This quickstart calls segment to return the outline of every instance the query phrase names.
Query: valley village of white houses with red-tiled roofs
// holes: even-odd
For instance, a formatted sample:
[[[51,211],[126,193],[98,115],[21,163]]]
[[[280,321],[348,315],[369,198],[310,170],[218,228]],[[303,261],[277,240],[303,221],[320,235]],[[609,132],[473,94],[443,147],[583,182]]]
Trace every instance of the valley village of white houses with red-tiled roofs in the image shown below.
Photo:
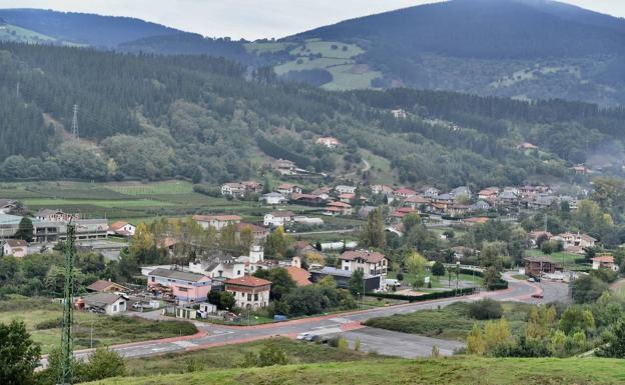
[[[334,138],[321,138],[319,143],[329,149],[340,145]],[[164,316],[239,324],[244,323],[244,313],[248,323],[251,323],[251,314],[264,322],[287,319],[296,312],[281,311],[279,303],[278,308],[276,304],[271,305],[277,297],[272,291],[272,270],[285,271],[289,282],[295,283],[297,288],[329,277],[336,288],[351,289],[351,302],[337,301],[334,307],[322,309],[325,311],[353,308],[357,300],[364,304],[365,295],[373,300],[371,295],[384,298],[384,293],[392,293],[393,298],[402,295],[412,298],[449,290],[454,290],[455,295],[459,288],[479,290],[484,281],[467,278],[466,273],[474,272],[464,268],[463,279],[456,278],[456,286],[451,285],[451,275],[455,271],[459,276],[461,265],[474,269],[479,275],[484,274],[484,268],[476,262],[481,252],[479,248],[458,236],[454,239],[454,233],[466,233],[467,229],[489,221],[518,223],[521,216],[554,207],[574,211],[587,193],[582,191],[571,196],[546,185],[489,187],[477,192],[466,186],[443,191],[432,186],[323,185],[322,178],[315,177],[311,182],[310,173],[291,161],[276,160],[273,167],[277,178],[289,182],[276,183],[271,191],[254,180],[227,182],[217,189],[227,200],[256,197],[266,208],[258,222],[244,222],[241,215],[233,212],[196,214],[189,218],[194,226],[212,233],[216,239],[231,236],[231,242],[197,247],[196,238],[181,236],[175,231],[165,230],[158,236],[152,234],[154,247],[161,250],[163,256],[159,260],[170,263],[138,266],[143,278],[134,279],[132,283],[116,283],[110,279],[95,281],[86,286],[84,295],[76,300],[76,307],[109,315],[158,309]],[[119,261],[128,255],[128,246],[136,238],[138,227],[146,231],[144,223],[123,220],[109,223],[106,218],[85,219],[80,213],[45,208],[27,218],[32,225],[32,236],[26,241],[21,229],[26,217],[13,215],[18,209],[25,212],[25,208],[16,200],[6,199],[0,203],[0,237],[5,256],[21,258],[62,250],[58,245],[66,241],[68,225],[73,223],[79,252],[97,253],[107,260]],[[372,247],[366,245],[366,241],[363,243],[362,227],[375,212],[381,216],[382,231],[387,237],[401,238],[406,235],[406,223],[417,220],[427,233],[436,236],[441,248],[449,250],[449,257],[427,260],[422,271],[411,274],[407,263],[384,255],[380,245]],[[336,228],[326,225],[328,218],[350,218],[359,220],[360,225]],[[302,238],[302,234],[309,236]],[[311,240],[310,236],[316,234],[326,240]],[[329,236],[334,236],[334,240],[329,240]],[[279,252],[276,242],[284,243],[278,246]],[[558,261],[549,254],[555,251],[569,259],[571,255],[583,258],[589,250],[594,250],[597,240],[579,231],[552,234],[544,229],[529,231],[523,242],[527,251],[522,261],[507,265],[508,269],[516,268],[529,280],[547,278],[571,282],[582,273],[578,271],[579,266],[566,266],[564,258]],[[544,253],[542,245],[547,243],[554,245],[554,250]],[[271,248],[269,255],[266,255],[267,247]],[[436,278],[432,276],[432,266],[441,261],[449,271],[449,282],[442,285],[442,280],[436,280],[432,286]],[[619,268],[608,253],[593,253],[587,263],[594,270],[617,271]],[[411,278],[402,281],[404,275]],[[417,275],[421,284],[410,281]],[[138,285],[142,280],[143,285]],[[277,284],[284,285],[283,282]],[[491,284],[487,283],[486,287]],[[354,286],[361,289],[355,290]],[[389,301],[381,305],[388,306]]]

